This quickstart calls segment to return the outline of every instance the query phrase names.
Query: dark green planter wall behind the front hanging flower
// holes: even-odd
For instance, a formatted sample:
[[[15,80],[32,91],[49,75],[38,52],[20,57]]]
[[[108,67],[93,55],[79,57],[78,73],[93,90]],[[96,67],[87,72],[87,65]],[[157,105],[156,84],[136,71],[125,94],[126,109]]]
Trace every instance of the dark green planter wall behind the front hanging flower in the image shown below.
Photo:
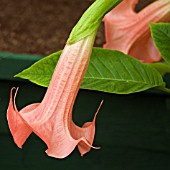
[[[32,134],[23,149],[10,135],[6,109],[11,87],[19,87],[17,106],[22,108],[41,101],[46,89],[27,81],[12,79],[40,57],[0,57],[0,170],[169,170],[170,169],[170,97],[151,93],[114,95],[80,90],[73,110],[78,125],[92,120],[102,99],[97,117],[95,146],[84,157],[78,150],[66,159],[45,154],[46,145]],[[12,70],[12,72],[11,72]],[[2,74],[3,73],[3,74]]]

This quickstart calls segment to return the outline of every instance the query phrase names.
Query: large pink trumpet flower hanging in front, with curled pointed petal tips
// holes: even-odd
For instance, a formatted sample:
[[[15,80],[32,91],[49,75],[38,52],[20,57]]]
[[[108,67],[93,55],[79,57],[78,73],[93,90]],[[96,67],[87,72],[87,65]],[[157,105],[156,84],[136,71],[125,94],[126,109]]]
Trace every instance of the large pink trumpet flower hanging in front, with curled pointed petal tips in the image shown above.
[[[68,156],[78,145],[81,155],[90,151],[95,135],[95,119],[82,128],[72,121],[73,104],[86,72],[95,34],[79,42],[66,45],[52,80],[41,103],[17,110],[11,90],[7,119],[18,147],[22,148],[34,132],[47,145],[47,155],[55,158]],[[98,111],[97,111],[98,112]]]

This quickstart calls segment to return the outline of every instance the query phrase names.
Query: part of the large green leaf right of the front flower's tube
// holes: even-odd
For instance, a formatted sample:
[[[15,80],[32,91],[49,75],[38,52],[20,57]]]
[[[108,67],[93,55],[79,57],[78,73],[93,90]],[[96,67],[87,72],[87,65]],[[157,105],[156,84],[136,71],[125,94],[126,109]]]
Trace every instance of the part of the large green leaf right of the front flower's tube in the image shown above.
[[[118,51],[94,49],[81,88],[128,94],[162,84],[152,67]]]

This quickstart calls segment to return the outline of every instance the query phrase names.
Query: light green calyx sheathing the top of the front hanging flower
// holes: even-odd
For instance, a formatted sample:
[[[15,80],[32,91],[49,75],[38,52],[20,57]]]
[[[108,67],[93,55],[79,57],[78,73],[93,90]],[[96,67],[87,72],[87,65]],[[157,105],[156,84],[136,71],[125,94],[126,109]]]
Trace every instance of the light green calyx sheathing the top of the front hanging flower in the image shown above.
[[[96,32],[104,15],[117,6],[122,0],[96,0],[82,15],[72,29],[67,44],[74,44]]]

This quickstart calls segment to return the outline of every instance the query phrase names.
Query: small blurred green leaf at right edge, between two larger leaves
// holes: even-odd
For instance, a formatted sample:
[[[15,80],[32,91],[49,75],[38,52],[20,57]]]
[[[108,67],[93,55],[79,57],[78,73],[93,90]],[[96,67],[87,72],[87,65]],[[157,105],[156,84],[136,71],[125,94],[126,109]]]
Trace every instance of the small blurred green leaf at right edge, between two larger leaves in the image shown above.
[[[166,63],[158,62],[158,63],[151,63],[149,65],[155,68],[161,74],[161,76],[170,73],[170,65]]]

